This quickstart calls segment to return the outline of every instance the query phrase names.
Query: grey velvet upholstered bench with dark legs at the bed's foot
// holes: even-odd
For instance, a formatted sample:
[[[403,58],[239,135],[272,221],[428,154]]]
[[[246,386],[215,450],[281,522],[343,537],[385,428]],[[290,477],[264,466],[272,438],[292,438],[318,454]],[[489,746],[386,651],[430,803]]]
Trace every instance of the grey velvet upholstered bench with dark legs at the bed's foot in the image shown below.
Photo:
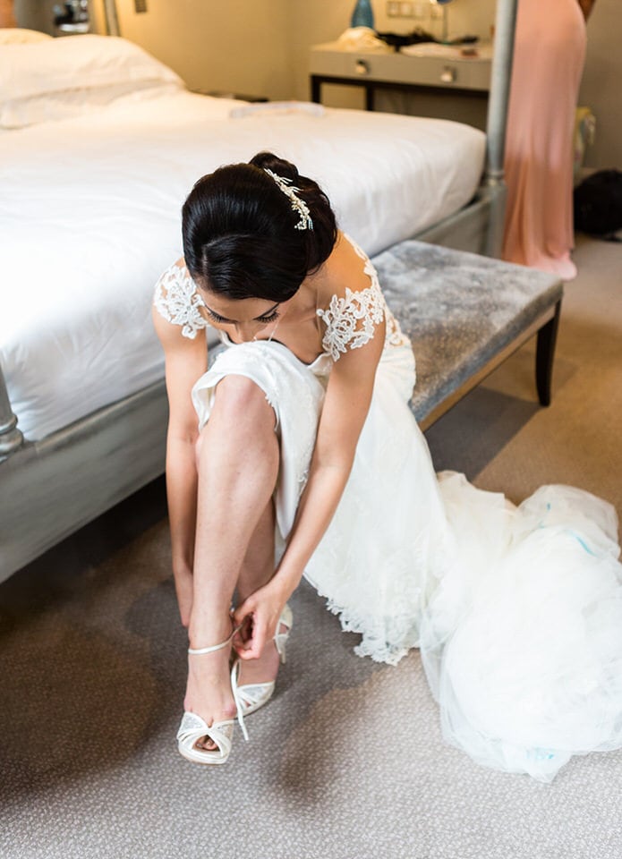
[[[411,408],[422,429],[534,334],[538,396],[550,404],[563,292],[558,276],[415,241],[372,261],[389,307],[413,342]]]

